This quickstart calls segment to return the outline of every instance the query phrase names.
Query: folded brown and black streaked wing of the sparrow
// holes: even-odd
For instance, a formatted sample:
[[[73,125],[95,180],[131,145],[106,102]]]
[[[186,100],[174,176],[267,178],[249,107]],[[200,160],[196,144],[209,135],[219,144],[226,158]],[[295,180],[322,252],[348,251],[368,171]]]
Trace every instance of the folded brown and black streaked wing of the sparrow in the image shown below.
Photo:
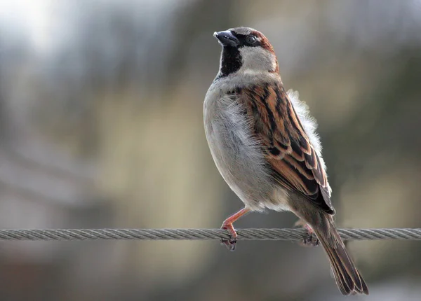
[[[274,179],[328,214],[335,214],[323,163],[281,83],[241,89]]]

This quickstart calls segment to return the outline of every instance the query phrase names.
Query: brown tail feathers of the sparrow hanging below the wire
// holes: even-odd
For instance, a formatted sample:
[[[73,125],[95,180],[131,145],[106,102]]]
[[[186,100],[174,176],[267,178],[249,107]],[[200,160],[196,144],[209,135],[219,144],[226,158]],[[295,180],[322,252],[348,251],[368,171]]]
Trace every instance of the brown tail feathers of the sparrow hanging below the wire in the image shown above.
[[[328,219],[327,228],[313,228],[314,232],[321,242],[332,267],[336,284],[343,295],[366,294],[368,287],[366,281],[359,273],[351,256],[349,256],[345,244],[333,224],[333,220]]]

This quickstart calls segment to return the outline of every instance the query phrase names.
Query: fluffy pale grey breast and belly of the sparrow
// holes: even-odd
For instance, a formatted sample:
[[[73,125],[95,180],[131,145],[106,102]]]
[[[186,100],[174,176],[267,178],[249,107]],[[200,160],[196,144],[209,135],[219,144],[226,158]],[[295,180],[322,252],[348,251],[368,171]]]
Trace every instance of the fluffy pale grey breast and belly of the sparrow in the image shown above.
[[[262,210],[273,186],[245,104],[236,94],[210,90],[203,110],[206,138],[220,174],[250,209]]]

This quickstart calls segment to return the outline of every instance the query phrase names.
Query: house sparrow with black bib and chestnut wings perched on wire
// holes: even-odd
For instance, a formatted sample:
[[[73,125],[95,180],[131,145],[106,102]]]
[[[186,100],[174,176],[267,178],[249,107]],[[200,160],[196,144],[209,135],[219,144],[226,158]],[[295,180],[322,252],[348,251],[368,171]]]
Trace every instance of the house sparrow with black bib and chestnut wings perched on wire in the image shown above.
[[[222,224],[231,236],[222,242],[234,250],[232,223],[249,211],[292,211],[326,251],[341,293],[368,294],[335,228],[316,122],[298,94],[285,91],[274,48],[247,27],[213,36],[222,54],[203,106],[206,138],[220,174],[245,204]]]

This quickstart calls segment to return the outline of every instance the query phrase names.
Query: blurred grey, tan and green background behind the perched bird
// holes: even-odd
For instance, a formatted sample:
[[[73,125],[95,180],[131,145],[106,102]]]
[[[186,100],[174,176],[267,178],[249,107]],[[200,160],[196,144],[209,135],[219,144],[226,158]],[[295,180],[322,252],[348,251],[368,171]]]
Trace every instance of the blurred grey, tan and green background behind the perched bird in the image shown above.
[[[213,31],[269,38],[319,121],[340,227],[420,228],[421,1],[0,1],[0,228],[218,228]],[[290,228],[288,213],[238,228]],[[370,288],[420,300],[421,243],[349,243]],[[288,241],[4,241],[0,300],[342,300]]]

